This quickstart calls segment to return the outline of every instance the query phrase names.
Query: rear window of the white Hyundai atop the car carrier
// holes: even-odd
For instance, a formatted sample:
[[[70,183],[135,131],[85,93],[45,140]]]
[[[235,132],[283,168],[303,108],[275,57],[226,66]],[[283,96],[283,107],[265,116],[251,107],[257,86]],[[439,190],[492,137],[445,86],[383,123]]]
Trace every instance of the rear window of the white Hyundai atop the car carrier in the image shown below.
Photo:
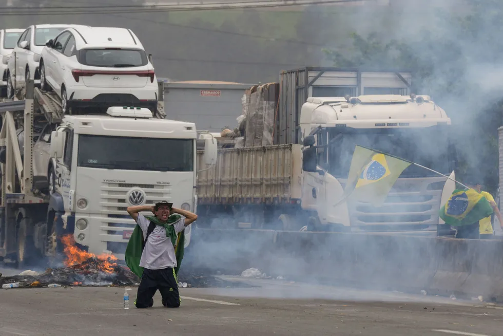
[[[82,49],[79,61],[89,66],[131,68],[148,64],[145,51],[139,49]]]

